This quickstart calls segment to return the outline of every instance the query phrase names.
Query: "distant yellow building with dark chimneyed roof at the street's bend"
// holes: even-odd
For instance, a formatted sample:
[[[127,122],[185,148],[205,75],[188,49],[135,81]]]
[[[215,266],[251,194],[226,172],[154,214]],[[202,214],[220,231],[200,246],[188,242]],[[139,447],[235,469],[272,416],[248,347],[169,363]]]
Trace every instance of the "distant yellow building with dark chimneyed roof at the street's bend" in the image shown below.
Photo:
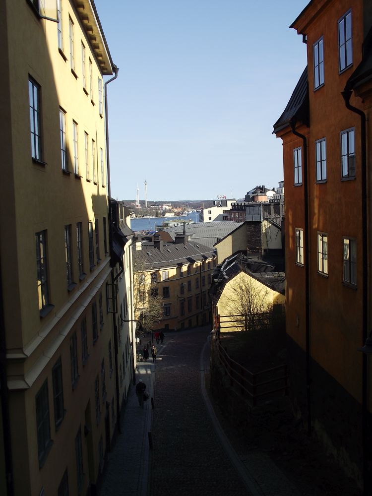
[[[177,330],[211,322],[208,289],[217,260],[214,248],[193,242],[192,234],[180,233],[174,242],[137,242],[136,249],[137,256],[141,251],[144,297],[164,299],[163,317],[153,329]]]

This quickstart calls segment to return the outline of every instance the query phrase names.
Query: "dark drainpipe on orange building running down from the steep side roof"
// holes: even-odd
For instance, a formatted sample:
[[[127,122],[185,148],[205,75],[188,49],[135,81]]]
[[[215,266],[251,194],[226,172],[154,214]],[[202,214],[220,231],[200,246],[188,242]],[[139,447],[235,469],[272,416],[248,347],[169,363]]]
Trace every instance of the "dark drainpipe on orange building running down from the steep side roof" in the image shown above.
[[[311,391],[310,391],[310,311],[309,311],[309,192],[308,192],[308,143],[304,134],[296,131],[296,121],[291,119],[293,134],[302,138],[304,147],[304,217],[305,217],[305,332],[306,332],[306,398],[308,406],[308,435],[311,435]]]

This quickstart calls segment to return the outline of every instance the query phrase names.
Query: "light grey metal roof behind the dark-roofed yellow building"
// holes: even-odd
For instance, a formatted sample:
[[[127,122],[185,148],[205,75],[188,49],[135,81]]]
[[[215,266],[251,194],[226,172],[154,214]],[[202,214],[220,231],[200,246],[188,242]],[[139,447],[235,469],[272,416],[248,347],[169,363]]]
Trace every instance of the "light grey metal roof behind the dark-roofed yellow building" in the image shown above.
[[[226,236],[239,226],[241,226],[240,222],[195,222],[193,224],[185,224],[185,229],[186,234],[193,233],[193,242],[196,241],[198,244],[213,248],[219,240],[226,238]],[[182,229],[182,226],[175,226],[159,229],[159,231],[169,233],[172,239],[175,239],[176,233],[180,233]]]

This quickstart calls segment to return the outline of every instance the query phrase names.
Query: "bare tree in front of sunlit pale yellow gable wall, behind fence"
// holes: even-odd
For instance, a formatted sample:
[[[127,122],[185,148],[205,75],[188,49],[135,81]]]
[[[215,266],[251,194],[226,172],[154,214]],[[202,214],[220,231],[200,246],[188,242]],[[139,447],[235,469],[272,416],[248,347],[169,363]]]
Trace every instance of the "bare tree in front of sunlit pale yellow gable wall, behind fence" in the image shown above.
[[[247,274],[240,273],[232,280],[223,299],[225,313],[230,316],[231,324],[240,330],[255,329],[267,325],[270,320],[273,310],[270,290],[257,284]]]

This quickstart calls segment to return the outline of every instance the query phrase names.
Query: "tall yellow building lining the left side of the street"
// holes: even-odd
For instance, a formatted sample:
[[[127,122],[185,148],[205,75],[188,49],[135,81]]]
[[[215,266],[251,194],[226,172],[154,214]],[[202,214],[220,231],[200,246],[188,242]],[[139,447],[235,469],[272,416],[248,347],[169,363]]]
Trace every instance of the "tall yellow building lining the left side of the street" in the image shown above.
[[[16,496],[86,494],[117,415],[103,82],[116,67],[94,2],[57,4],[0,2],[0,463]]]

